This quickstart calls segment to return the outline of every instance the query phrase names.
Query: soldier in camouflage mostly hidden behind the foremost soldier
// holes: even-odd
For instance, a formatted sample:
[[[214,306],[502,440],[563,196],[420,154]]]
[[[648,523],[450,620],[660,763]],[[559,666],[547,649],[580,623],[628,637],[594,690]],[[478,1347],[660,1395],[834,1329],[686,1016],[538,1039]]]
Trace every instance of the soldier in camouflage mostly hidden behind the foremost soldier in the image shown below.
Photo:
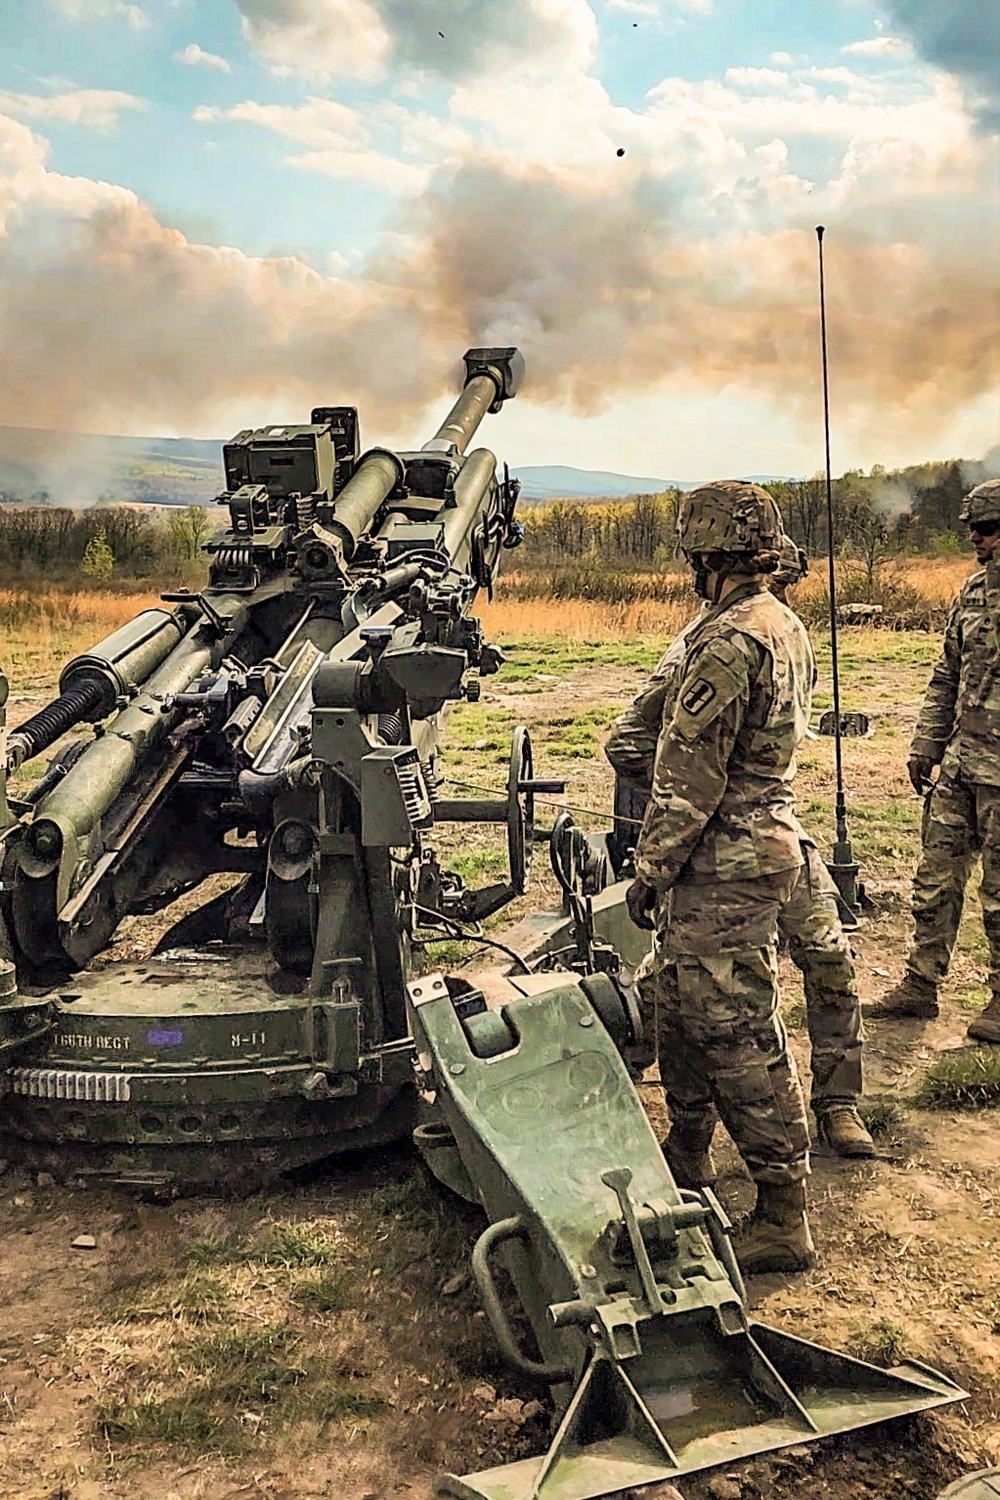
[[[778,566],[768,576],[772,594],[787,603],[786,592],[807,572],[805,554],[783,537]],[[615,722],[604,747],[615,771],[648,796],[663,722],[669,678],[684,660],[711,606],[691,620],[672,644],[646,688]],[[634,806],[634,804],[633,804]],[[841,1156],[874,1156],[876,1146],[858,1114],[862,1092],[861,1004],[850,944],[840,920],[837,886],[816,844],[802,837],[802,866],[778,932],[789,942],[792,962],[802,972],[807,1024],[813,1052],[813,1096],[820,1136]],[[640,990],[643,988],[640,982]],[[712,1122],[715,1116],[712,1113]],[[670,1170],[681,1186],[708,1186],[715,1168],[708,1149],[708,1120],[693,1132],[696,1150],[681,1150],[678,1132],[666,1144]]]

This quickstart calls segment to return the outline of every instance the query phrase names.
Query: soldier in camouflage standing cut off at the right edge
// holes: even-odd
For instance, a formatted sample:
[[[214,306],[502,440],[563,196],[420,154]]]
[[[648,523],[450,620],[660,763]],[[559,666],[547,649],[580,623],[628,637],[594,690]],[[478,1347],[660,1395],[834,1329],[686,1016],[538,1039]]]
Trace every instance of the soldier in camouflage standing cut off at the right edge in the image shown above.
[[[870,1016],[937,1016],[966,885],[982,855],[982,920],[993,999],[969,1028],[1000,1042],[1000,478],[978,484],[960,519],[982,567],[963,584],[931,674],[907,770],[924,795],[922,854],[913,878],[913,945],[906,975]],[[931,772],[940,766],[937,782]]]

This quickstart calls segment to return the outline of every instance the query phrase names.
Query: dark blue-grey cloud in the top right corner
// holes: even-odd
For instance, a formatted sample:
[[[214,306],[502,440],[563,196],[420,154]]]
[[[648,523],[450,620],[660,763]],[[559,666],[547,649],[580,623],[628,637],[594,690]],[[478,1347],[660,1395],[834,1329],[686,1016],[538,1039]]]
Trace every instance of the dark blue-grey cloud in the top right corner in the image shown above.
[[[987,130],[1000,130],[1000,0],[889,0],[922,57],[964,80]]]

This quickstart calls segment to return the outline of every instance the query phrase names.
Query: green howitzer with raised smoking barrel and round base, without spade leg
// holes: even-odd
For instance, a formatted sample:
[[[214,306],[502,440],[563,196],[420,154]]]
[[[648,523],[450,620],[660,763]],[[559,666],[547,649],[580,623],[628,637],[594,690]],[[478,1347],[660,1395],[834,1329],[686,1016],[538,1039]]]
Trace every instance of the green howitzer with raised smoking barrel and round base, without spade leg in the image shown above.
[[[471,610],[520,540],[517,483],[466,450],[522,375],[517,350],[469,350],[459,399],[412,453],[363,454],[349,406],[240,432],[208,585],[75,657],[57,699],[9,734],[0,957],[21,987],[0,986],[0,1054],[15,1154],[177,1191],[411,1126],[414,934],[498,910],[531,858],[525,732],[505,800],[444,800],[436,770],[450,705],[502,662]],[[7,796],[7,771],[57,741],[40,780]],[[511,854],[510,879],[478,891],[429,842],[472,819],[505,822]],[[210,876],[228,890],[148,963],[87,972],[124,916]]]

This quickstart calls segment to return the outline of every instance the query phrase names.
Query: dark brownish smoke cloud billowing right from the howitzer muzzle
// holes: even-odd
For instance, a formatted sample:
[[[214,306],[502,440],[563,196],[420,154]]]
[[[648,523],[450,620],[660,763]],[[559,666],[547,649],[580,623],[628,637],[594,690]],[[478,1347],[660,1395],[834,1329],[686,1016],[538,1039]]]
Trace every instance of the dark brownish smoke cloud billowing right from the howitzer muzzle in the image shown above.
[[[586,412],[664,382],[738,384],[814,410],[810,230],[691,243],[669,212],[651,218],[639,188],[606,208],[552,174],[487,165],[460,171],[424,213],[439,303],[486,342],[516,332],[535,399]],[[873,408],[873,423],[888,411],[895,432],[933,428],[996,386],[1000,297],[987,252],[940,264],[840,230],[828,276],[841,411]]]

